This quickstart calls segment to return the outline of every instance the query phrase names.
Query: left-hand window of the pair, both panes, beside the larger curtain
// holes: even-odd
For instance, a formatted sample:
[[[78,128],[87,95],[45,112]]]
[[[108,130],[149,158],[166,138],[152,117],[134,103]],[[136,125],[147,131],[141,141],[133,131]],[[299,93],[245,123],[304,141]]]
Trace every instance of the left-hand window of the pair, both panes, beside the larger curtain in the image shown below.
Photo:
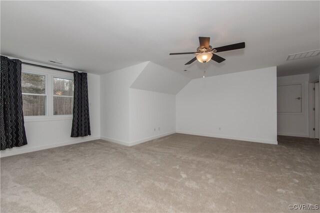
[[[22,72],[22,104],[24,116],[46,114],[45,75]]]

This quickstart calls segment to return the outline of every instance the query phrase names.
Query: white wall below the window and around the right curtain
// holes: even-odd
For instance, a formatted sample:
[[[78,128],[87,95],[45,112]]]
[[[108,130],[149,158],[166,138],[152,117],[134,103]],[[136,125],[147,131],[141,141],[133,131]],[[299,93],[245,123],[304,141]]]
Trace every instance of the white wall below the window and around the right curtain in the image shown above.
[[[72,75],[72,74],[71,74]],[[100,137],[100,76],[88,73],[88,99],[91,136],[71,138],[72,116],[56,118],[25,118],[24,127],[28,144],[1,151],[1,157],[33,152],[52,147],[96,140]]]

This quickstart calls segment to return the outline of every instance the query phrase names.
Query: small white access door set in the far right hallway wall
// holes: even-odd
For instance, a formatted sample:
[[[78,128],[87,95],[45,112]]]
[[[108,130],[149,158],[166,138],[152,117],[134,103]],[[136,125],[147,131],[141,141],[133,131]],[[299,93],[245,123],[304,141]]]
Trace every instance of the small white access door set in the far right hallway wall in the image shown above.
[[[301,113],[301,84],[277,86],[277,112]]]

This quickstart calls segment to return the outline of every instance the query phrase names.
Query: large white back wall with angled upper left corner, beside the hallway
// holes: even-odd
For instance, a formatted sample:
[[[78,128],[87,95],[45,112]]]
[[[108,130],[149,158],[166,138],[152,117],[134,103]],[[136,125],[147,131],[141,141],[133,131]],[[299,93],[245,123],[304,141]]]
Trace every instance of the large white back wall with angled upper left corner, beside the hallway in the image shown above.
[[[176,131],[277,144],[276,67],[191,80],[176,95]]]

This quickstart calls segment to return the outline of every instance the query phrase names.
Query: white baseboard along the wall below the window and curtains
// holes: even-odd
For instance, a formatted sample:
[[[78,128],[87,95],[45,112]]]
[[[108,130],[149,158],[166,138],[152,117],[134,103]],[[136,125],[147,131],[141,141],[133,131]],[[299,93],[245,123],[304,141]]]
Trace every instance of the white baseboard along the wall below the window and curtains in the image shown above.
[[[93,140],[98,140],[100,139],[99,136],[89,136],[89,137],[83,137],[77,140],[72,140],[72,141],[65,141],[57,144],[49,144],[49,145],[44,145],[44,146],[37,146],[37,147],[30,147],[28,148],[27,145],[22,146],[22,147],[13,147],[12,149],[6,149],[2,150],[0,157],[7,157],[7,156],[12,156],[12,155],[19,155],[23,153],[28,153],[28,152],[34,152],[34,151],[39,151],[39,150],[44,150],[44,149],[50,149],[54,147],[61,147],[61,146],[66,146],[66,145],[71,145],[71,144],[77,144],[77,143],[82,143],[82,142],[87,142],[87,141],[93,141]]]

